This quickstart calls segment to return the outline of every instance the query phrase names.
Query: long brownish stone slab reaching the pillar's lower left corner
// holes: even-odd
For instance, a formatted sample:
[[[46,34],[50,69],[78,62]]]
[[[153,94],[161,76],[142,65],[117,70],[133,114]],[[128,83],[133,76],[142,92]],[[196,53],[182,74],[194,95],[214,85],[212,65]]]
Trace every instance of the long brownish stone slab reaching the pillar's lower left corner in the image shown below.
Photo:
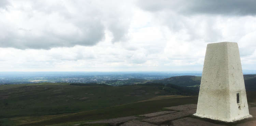
[[[196,112],[196,110],[170,113],[170,114],[166,114],[166,115],[160,115],[160,116],[157,116],[157,117],[144,119],[142,121],[155,123],[155,124],[162,124],[162,123],[165,123],[165,122],[168,122],[168,121],[171,121],[171,120],[176,120],[176,119],[180,119],[182,117],[192,115],[195,112]]]

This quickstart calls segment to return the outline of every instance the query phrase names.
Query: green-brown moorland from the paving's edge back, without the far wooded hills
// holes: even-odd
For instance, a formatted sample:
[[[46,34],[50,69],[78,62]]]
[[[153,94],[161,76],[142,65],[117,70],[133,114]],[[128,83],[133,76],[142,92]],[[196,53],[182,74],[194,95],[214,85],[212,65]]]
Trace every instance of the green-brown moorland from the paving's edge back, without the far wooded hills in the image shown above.
[[[171,92],[156,86],[37,83],[1,85],[0,88],[1,125],[98,120],[159,111],[163,107],[196,101],[196,97],[191,97],[193,100],[170,96]]]

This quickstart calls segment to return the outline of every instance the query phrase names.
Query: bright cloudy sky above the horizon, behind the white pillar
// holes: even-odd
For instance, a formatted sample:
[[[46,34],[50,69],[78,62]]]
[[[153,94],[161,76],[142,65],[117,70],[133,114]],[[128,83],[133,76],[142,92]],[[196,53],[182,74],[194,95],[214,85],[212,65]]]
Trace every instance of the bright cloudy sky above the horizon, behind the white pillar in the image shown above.
[[[202,70],[237,42],[256,70],[254,0],[1,0],[0,71]]]

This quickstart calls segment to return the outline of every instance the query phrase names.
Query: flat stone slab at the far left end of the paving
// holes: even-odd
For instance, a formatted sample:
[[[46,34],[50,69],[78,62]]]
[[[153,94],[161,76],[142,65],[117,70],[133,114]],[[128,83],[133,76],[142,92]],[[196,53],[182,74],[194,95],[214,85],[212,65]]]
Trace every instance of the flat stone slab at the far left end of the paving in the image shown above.
[[[129,120],[137,119],[138,117],[130,116],[130,117],[120,117],[120,118],[114,118],[114,119],[107,119],[107,120],[100,120],[100,121],[94,121],[94,122],[86,122],[86,124],[99,124],[99,123],[110,123],[110,124],[119,124],[123,122],[127,122]]]

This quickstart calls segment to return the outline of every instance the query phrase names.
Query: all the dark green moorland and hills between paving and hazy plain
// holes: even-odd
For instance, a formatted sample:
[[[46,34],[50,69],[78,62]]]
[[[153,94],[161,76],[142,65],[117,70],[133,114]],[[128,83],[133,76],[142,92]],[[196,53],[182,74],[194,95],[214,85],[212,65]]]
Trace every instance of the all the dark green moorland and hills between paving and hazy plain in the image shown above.
[[[256,107],[254,90],[256,78],[255,75],[246,77],[245,87],[246,90],[249,89],[247,100],[250,106]],[[140,81],[142,83],[139,83]],[[159,81],[134,79],[128,80],[129,83],[108,81],[112,85],[119,85],[121,82],[133,84],[125,86],[69,83],[0,85],[0,125],[70,126],[100,119],[162,111],[165,110],[164,107],[196,104],[200,77],[172,77]],[[179,83],[170,84],[174,82]],[[134,83],[138,84],[134,85]]]

